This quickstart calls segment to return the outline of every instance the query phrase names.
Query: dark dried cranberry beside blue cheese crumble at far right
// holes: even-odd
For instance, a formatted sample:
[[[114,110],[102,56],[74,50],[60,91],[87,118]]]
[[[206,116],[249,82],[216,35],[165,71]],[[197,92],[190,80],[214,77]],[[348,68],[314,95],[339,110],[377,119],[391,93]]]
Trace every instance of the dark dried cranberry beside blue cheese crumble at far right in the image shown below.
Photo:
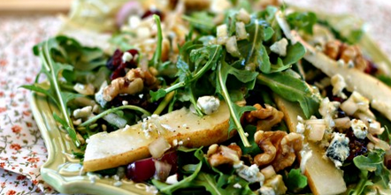
[[[350,154],[348,157],[348,161],[352,161],[358,155],[362,155],[368,152],[368,148],[366,147],[369,143],[369,139],[357,139],[353,134],[353,131],[349,129],[346,133],[346,137],[349,138],[349,149]]]

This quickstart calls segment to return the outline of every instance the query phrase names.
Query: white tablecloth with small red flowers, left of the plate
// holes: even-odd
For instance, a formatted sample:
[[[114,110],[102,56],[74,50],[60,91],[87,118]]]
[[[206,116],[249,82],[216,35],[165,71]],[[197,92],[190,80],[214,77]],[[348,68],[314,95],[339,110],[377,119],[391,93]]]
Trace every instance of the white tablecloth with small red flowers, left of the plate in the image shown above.
[[[40,174],[47,150],[31,113],[31,84],[41,69],[33,46],[58,31],[54,16],[0,16],[0,194],[58,193]]]

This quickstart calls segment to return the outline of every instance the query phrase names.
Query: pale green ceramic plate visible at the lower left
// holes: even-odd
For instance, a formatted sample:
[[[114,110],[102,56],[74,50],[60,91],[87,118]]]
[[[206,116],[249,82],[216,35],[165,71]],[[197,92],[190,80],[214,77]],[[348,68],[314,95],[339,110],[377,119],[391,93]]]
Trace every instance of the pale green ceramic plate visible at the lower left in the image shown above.
[[[58,127],[53,118],[53,113],[59,113],[58,108],[47,97],[37,93],[32,93],[31,108],[48,149],[48,161],[42,165],[41,175],[56,191],[102,195],[154,194],[147,184],[125,179],[117,181],[111,177],[99,177],[83,172],[80,160],[74,159],[72,155],[78,148],[66,138],[67,133]]]

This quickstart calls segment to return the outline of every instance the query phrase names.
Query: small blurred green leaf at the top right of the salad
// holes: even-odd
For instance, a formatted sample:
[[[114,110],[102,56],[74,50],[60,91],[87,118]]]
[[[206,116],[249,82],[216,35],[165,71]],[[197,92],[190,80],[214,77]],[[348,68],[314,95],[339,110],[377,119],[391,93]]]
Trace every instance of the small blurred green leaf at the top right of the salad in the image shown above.
[[[303,30],[307,34],[313,34],[312,28],[317,23],[317,15],[314,12],[293,12],[288,14],[287,21],[292,29]]]

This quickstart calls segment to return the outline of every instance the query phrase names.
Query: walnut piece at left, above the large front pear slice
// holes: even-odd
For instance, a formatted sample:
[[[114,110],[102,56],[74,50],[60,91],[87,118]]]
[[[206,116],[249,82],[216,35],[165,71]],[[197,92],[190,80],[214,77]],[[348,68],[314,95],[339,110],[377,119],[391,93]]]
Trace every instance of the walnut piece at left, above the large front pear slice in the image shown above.
[[[142,92],[144,86],[153,86],[157,79],[149,72],[140,68],[131,69],[125,75],[113,79],[109,86],[103,89],[103,99],[111,101],[118,94],[137,94]]]

